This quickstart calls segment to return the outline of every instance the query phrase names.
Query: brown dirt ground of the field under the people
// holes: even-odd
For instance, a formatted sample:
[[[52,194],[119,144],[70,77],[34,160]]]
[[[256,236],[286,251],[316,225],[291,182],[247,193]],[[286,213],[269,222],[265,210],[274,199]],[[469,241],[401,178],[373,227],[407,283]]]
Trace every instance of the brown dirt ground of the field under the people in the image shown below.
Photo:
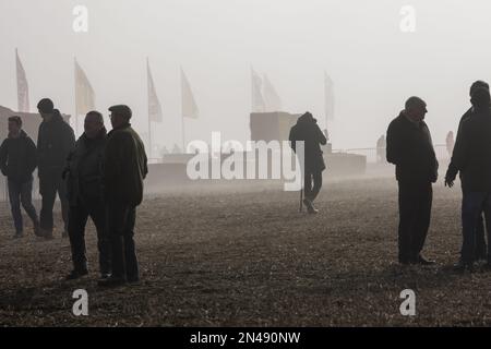
[[[431,267],[396,261],[397,188],[386,179],[331,181],[321,214],[298,213],[297,193],[279,188],[168,191],[139,209],[142,284],[64,281],[68,240],[13,240],[0,207],[0,325],[3,326],[434,326],[491,325],[491,273],[459,275],[458,188],[435,186],[424,254]],[[39,204],[39,203],[37,203]],[[59,214],[57,216],[59,224]],[[404,289],[417,314],[400,315]],[[86,289],[89,315],[72,314]]]

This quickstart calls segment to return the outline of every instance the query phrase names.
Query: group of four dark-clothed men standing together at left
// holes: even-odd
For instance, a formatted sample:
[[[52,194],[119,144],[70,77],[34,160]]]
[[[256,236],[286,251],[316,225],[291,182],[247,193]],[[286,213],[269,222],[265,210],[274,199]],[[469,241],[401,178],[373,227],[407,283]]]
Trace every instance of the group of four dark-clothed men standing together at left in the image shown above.
[[[62,237],[70,238],[73,261],[67,279],[88,274],[85,226],[91,217],[97,230],[99,285],[139,282],[133,237],[148,169],[143,142],[130,123],[131,109],[124,105],[109,108],[109,133],[103,115],[88,112],[84,133],[75,142],[72,128],[50,99],[41,99],[37,108],[43,118],[37,146],[22,130],[22,119],[16,116],[9,118],[9,136],[0,146],[0,169],[8,178],[14,237],[22,238],[24,233],[22,204],[35,234],[52,239],[58,193],[64,225]],[[36,168],[43,198],[39,218],[32,203]]]

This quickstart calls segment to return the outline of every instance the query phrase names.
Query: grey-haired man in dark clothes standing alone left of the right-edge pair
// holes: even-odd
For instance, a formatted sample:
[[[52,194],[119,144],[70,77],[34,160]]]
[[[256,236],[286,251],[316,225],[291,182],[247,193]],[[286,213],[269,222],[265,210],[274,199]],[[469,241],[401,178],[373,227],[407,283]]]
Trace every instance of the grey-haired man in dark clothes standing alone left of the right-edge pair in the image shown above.
[[[424,116],[427,104],[410,97],[387,130],[387,161],[396,166],[399,185],[399,263],[430,265],[421,255],[431,220],[432,183],[439,163]]]

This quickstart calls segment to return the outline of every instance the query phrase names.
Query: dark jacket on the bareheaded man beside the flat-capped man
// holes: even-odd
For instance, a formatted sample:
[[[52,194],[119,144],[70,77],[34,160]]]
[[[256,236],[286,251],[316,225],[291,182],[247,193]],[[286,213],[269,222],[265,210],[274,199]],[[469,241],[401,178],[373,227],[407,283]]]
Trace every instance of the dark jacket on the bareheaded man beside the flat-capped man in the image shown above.
[[[88,139],[84,133],[70,153],[64,173],[71,206],[76,206],[80,201],[87,205],[104,201],[103,164],[106,142],[106,129],[95,139]]]

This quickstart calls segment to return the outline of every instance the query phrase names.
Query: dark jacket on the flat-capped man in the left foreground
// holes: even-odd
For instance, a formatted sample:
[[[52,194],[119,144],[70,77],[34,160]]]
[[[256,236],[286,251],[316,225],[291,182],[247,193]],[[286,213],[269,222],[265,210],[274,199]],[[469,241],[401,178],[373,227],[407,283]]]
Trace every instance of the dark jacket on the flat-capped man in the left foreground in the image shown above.
[[[143,201],[143,180],[148,173],[145,146],[131,124],[108,134],[104,160],[106,200],[130,206]]]

